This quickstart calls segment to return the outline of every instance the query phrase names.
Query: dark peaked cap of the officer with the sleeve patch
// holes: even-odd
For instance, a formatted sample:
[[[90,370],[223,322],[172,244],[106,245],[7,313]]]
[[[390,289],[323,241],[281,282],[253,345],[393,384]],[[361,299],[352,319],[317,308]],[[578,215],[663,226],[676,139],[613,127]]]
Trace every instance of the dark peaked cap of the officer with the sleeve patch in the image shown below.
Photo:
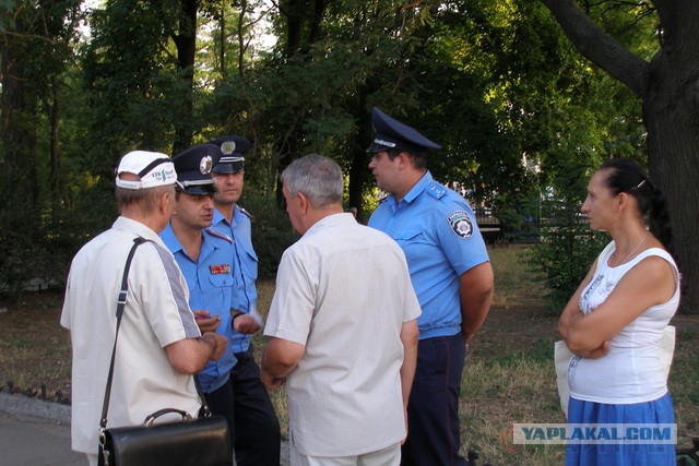
[[[414,155],[425,155],[429,150],[441,148],[439,144],[428,140],[407,124],[389,117],[377,107],[371,109],[371,126],[376,131],[376,138],[367,148],[370,154],[396,150]]]

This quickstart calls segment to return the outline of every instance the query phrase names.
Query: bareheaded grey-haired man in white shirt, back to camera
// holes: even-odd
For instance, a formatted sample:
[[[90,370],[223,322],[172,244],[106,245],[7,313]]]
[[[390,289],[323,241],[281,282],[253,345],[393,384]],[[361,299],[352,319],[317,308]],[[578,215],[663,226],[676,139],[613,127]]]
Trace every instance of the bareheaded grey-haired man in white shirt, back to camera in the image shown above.
[[[262,381],[288,379],[292,464],[398,465],[420,313],[405,255],[343,212],[329,158],[295,160],[282,182],[303,238],[277,272]]]

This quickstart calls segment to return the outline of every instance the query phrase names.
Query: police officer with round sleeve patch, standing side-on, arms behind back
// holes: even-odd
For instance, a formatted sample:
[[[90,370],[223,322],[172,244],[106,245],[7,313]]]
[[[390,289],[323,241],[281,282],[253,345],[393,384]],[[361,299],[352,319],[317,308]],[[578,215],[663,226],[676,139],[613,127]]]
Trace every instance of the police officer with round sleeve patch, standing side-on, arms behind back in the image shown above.
[[[369,226],[405,252],[423,314],[403,465],[465,465],[459,393],[469,342],[493,298],[493,268],[469,203],[435,181],[426,154],[440,146],[378,108],[369,169],[389,195]]]

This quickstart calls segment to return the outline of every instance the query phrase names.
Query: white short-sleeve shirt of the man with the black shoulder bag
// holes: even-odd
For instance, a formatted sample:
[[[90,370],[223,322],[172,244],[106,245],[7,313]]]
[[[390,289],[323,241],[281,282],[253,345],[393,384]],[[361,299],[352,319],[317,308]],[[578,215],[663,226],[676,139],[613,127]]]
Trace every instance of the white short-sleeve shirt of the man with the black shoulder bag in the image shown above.
[[[165,346],[200,335],[173,254],[145,225],[119,217],[73,259],[61,325],[72,342],[72,446],[97,453],[107,371],[115,340],[117,299],[127,255],[139,246],[119,330],[107,427],[142,423],[162,408],[197,416],[201,406],[191,375],[170,365]]]

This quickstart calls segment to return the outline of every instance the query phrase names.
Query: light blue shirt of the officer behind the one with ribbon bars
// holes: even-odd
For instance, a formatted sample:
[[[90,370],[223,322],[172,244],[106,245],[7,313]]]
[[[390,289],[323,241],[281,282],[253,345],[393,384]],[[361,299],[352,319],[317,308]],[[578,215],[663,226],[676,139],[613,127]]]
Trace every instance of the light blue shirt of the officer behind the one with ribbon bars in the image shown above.
[[[226,217],[214,208],[214,219],[211,228],[222,235],[233,238],[233,253],[235,263],[235,285],[239,308],[242,312],[257,314],[258,289],[258,254],[252,248],[252,225],[250,217],[238,205],[233,211],[233,222],[228,224]],[[257,314],[259,316],[259,314]],[[230,346],[234,353],[247,351],[252,335],[233,332]]]

